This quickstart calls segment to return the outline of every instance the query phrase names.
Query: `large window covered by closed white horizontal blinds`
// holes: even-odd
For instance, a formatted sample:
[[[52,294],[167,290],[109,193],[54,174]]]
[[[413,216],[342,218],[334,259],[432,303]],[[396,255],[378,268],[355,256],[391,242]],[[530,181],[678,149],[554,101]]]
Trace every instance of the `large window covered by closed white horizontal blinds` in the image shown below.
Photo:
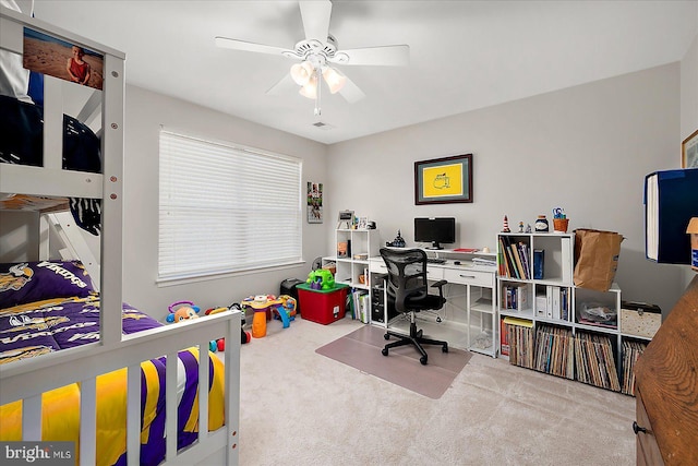
[[[301,160],[160,131],[158,278],[297,263]]]

